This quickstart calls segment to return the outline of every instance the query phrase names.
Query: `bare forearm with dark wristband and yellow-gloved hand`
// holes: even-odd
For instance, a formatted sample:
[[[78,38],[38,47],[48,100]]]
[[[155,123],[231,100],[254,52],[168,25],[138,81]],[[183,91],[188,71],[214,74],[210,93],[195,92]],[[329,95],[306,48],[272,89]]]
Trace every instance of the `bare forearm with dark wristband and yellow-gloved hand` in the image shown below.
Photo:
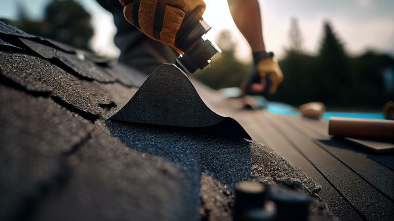
[[[235,25],[252,48],[253,60],[262,79],[255,83],[262,84],[266,80],[269,81],[265,82],[267,88],[262,87],[262,90],[272,95],[282,82],[283,74],[273,53],[265,51],[259,2],[258,0],[228,0],[228,2]],[[256,76],[252,76],[251,79],[256,79]],[[256,84],[251,83],[248,85],[253,88]]]

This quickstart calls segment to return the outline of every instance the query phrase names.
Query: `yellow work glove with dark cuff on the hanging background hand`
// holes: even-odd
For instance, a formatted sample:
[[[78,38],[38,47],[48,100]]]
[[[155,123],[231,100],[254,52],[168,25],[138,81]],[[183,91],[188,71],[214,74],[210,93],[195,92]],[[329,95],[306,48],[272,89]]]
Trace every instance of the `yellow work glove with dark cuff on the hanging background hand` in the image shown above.
[[[272,52],[267,53],[264,51],[259,53],[254,53],[256,69],[262,79],[268,79],[270,81],[267,90],[270,95],[273,95],[279,84],[283,81],[283,73]]]

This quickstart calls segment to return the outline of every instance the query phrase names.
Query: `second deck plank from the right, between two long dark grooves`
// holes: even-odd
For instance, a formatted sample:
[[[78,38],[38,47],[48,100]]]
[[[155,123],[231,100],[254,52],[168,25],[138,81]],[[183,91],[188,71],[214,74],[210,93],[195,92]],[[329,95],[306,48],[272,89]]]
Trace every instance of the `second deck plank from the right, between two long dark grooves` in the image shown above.
[[[393,220],[394,204],[345,164],[291,126],[283,117],[269,120],[305,156],[366,220]]]

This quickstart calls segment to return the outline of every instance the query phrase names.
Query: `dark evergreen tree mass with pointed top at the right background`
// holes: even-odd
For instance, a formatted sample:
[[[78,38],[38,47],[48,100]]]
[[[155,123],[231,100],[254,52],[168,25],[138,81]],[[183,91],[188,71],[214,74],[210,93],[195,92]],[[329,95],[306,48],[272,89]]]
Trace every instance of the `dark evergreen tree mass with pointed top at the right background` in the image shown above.
[[[328,107],[381,108],[392,96],[384,88],[382,73],[394,70],[394,59],[372,52],[350,58],[329,23],[324,30],[317,57],[287,52],[279,63],[285,80],[270,99],[296,106],[321,101]]]

